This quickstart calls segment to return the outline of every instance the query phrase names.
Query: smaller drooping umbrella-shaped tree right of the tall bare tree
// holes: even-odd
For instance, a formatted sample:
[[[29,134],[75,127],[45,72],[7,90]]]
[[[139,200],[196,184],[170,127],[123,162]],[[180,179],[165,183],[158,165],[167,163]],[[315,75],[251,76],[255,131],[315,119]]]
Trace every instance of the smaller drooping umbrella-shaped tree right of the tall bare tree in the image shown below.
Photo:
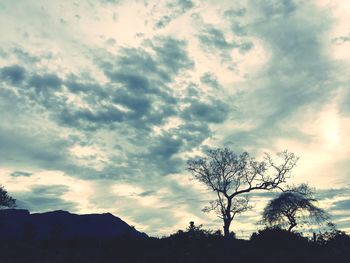
[[[292,231],[302,218],[310,223],[327,221],[327,213],[314,204],[316,199],[313,195],[314,192],[306,184],[281,193],[265,207],[263,222],[269,225],[288,225],[288,231]]]

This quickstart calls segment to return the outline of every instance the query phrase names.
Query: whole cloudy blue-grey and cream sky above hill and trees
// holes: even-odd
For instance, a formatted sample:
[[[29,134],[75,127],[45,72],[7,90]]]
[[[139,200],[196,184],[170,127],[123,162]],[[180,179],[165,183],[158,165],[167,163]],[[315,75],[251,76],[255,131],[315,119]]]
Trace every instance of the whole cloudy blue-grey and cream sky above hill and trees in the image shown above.
[[[290,183],[349,232],[349,25],[346,0],[0,0],[0,183],[32,212],[162,236],[222,225],[187,159],[288,149]]]

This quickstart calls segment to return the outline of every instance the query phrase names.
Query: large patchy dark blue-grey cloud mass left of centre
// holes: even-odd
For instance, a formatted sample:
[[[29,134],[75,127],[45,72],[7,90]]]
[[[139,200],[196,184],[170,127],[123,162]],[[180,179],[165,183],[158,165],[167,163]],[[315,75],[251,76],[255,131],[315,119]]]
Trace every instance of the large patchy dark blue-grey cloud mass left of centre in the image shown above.
[[[28,80],[16,89],[38,109],[46,108],[52,120],[67,127],[92,131],[122,124],[149,130],[177,114],[179,101],[169,85],[175,76],[191,69],[193,61],[187,55],[185,41],[156,38],[146,45],[154,52],[125,48],[113,59],[110,54],[100,59],[99,66],[110,80],[103,87],[89,78],[81,80],[83,76],[61,79],[53,73],[28,73]],[[79,94],[88,107],[54,94],[63,87]]]

